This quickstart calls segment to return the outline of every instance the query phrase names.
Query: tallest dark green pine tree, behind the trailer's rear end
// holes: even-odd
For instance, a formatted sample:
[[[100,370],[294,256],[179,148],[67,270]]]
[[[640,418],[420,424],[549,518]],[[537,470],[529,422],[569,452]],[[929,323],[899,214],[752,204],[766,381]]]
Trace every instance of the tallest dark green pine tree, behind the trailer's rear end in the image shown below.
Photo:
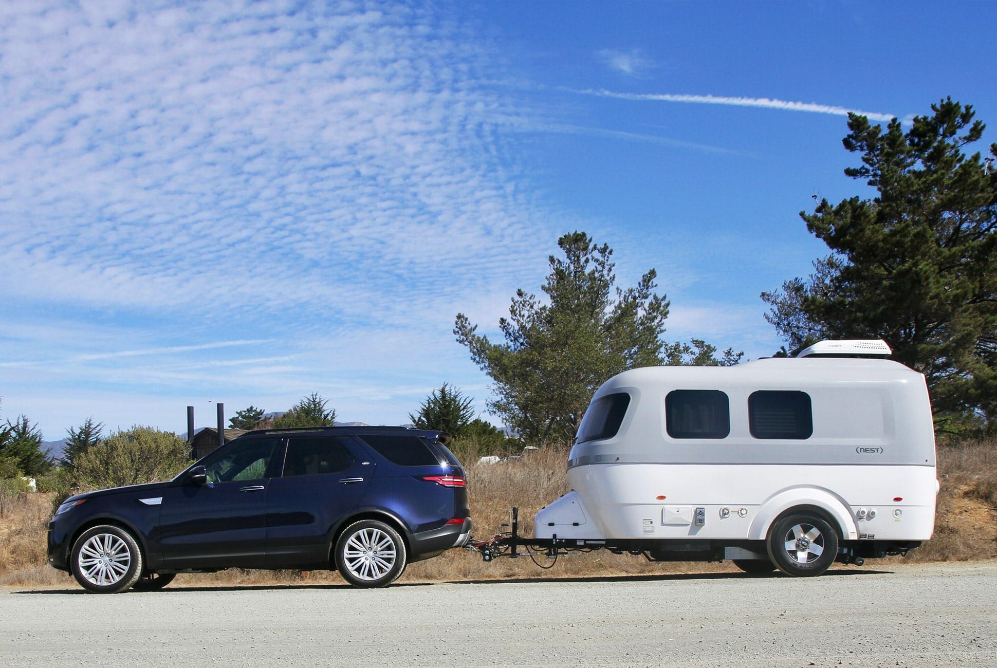
[[[844,173],[876,190],[801,212],[831,254],[762,293],[792,352],[821,338],[882,338],[925,375],[936,415],[997,416],[997,170],[967,156],[984,125],[951,98],[906,132],[848,115]]]

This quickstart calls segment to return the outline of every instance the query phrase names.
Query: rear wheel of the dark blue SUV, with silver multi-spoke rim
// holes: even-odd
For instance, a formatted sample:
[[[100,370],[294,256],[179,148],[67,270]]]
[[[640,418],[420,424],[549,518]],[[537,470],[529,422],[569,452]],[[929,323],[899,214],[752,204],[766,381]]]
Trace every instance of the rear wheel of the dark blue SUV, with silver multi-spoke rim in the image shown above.
[[[355,521],[336,541],[336,567],[357,587],[383,587],[405,570],[405,541],[392,526],[377,519]]]

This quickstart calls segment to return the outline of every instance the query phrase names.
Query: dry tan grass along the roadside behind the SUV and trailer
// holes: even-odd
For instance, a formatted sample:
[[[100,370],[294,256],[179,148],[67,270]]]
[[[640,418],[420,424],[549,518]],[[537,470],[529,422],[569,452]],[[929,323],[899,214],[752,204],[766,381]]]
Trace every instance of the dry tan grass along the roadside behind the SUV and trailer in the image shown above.
[[[465,456],[465,461],[474,458]],[[498,465],[471,464],[469,493],[478,537],[505,530],[509,509],[519,506],[522,535],[532,534],[532,516],[543,504],[567,492],[564,449],[533,451],[522,459]],[[973,443],[939,447],[941,493],[935,535],[910,552],[907,560],[948,561],[997,557],[997,444]],[[52,495],[6,496],[0,516],[0,585],[68,585],[68,575],[45,560],[45,531],[52,512]],[[899,557],[897,557],[899,558]],[[558,558],[550,570],[539,570],[528,557],[485,563],[467,550],[450,550],[440,557],[412,564],[404,579],[439,581],[504,579],[509,577],[606,576],[628,573],[731,570],[729,563],[650,563],[639,556],[606,551],[574,553]],[[181,575],[177,584],[251,585],[339,582],[336,573],[232,569],[214,574]]]

